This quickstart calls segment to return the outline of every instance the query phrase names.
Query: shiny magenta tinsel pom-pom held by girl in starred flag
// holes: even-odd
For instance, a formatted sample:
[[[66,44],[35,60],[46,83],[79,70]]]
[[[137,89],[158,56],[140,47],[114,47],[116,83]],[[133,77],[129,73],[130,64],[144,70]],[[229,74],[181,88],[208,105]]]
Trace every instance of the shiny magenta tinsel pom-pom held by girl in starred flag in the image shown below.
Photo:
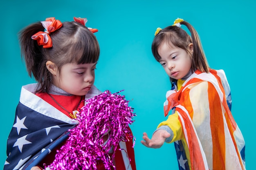
[[[108,152],[117,149],[120,141],[127,141],[128,128],[135,116],[124,96],[105,91],[85,101],[76,120],[79,124],[70,130],[70,136],[49,166],[52,170],[96,170],[96,163],[103,161],[106,170],[115,168]],[[110,131],[108,132],[108,130]],[[108,132],[104,144],[102,136]],[[103,145],[104,144],[104,145]],[[122,148],[121,148],[122,149]]]

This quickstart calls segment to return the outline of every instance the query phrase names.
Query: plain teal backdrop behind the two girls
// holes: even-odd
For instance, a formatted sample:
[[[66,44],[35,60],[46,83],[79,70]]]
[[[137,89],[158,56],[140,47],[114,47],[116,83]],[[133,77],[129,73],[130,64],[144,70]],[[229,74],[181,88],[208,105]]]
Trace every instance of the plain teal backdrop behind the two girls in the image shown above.
[[[137,170],[178,170],[173,144],[160,149],[144,147],[142,133],[152,132],[165,120],[163,102],[170,88],[168,76],[152,53],[157,27],[176,18],[198,31],[211,68],[224,69],[232,93],[232,114],[246,142],[246,167],[253,167],[255,152],[255,17],[254,0],[5,0],[0,2],[0,163],[6,159],[6,141],[13,125],[22,85],[33,83],[20,58],[18,31],[47,17],[72,21],[88,18],[101,54],[95,85],[101,90],[120,90],[135,108],[131,126],[136,137]],[[185,27],[185,26],[183,26]]]

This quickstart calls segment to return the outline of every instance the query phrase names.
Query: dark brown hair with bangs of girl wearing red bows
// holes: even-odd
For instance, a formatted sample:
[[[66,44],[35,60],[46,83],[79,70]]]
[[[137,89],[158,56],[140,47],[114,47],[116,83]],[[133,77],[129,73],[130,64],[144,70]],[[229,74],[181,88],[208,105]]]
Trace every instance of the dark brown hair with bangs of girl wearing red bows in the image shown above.
[[[38,46],[31,36],[44,31],[40,22],[31,24],[20,31],[21,54],[25,60],[27,72],[38,82],[36,92],[48,92],[52,84],[52,74],[46,68],[46,62],[56,64],[58,70],[67,63],[88,64],[99,60],[99,43],[89,29],[77,22],[63,22],[60,29],[50,33],[52,47]]]

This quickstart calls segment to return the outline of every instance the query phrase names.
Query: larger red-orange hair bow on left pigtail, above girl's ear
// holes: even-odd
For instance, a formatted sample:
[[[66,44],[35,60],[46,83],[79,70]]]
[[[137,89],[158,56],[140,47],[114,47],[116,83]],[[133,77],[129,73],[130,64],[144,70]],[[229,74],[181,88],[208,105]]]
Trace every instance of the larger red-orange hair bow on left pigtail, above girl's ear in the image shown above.
[[[41,23],[45,28],[45,32],[39,31],[38,33],[32,35],[31,38],[36,40],[38,45],[43,45],[43,48],[50,48],[52,47],[52,39],[49,34],[61,28],[62,23],[59,20],[55,20],[54,17],[46,18],[46,20],[41,21]]]

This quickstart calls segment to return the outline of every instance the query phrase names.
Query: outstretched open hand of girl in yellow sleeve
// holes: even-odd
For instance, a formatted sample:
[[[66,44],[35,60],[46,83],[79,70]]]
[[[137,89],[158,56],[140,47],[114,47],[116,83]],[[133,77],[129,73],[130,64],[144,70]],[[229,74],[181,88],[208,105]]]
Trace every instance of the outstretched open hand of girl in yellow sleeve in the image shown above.
[[[148,148],[160,148],[164,144],[165,139],[170,136],[170,133],[166,130],[159,129],[153,134],[152,138],[149,139],[147,133],[144,132],[142,137],[144,141],[141,140],[141,144]]]

